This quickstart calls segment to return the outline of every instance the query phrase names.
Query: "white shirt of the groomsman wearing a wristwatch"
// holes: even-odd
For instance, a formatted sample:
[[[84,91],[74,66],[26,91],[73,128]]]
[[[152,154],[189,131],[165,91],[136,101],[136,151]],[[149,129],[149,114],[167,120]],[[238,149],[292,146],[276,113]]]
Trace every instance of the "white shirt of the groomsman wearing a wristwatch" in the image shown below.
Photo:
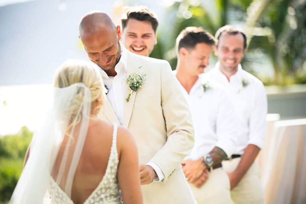
[[[205,92],[204,83],[211,87]],[[189,104],[195,130],[194,147],[185,159],[197,160],[215,146],[230,157],[236,150],[237,128],[233,103],[228,93],[203,74],[199,75],[189,94],[182,85],[181,89]]]

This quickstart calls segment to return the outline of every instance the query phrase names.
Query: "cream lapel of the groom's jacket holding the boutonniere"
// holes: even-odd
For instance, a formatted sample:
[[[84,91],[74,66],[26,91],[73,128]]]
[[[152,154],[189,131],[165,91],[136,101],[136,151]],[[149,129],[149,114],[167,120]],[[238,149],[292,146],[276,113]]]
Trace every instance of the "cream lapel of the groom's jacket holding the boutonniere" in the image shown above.
[[[140,67],[141,67],[141,63],[140,63],[138,57],[136,55],[134,56],[133,54],[128,52],[128,63],[127,63],[125,79],[134,72],[142,74],[143,70],[139,69]],[[130,93],[130,89],[129,89],[128,84],[126,82],[125,82],[124,86],[125,86],[124,97],[126,98],[126,97],[128,97],[128,95]],[[124,100],[123,126],[125,128],[127,128],[128,125],[129,125],[129,121],[130,121],[132,111],[133,111],[133,107],[134,107],[135,97],[136,97],[136,94],[137,94],[138,91],[139,90],[132,93],[132,97],[130,97],[129,102]]]

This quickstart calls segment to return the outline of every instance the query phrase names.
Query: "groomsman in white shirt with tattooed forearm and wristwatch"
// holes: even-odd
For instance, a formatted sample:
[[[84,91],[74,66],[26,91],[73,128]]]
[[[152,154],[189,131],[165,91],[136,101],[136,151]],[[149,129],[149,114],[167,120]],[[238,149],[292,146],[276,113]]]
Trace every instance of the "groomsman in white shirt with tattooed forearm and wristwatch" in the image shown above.
[[[203,76],[215,38],[200,27],[177,37],[176,77],[191,109],[195,145],[182,163],[197,203],[229,203],[230,181],[221,161],[236,150],[233,103],[225,89]]]

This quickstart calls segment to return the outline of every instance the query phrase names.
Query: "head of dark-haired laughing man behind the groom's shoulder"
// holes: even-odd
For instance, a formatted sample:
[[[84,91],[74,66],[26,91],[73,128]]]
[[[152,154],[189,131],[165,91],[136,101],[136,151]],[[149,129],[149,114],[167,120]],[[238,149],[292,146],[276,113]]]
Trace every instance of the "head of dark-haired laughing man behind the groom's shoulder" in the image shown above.
[[[130,7],[121,17],[122,42],[130,52],[149,56],[157,43],[158,20],[147,7]]]

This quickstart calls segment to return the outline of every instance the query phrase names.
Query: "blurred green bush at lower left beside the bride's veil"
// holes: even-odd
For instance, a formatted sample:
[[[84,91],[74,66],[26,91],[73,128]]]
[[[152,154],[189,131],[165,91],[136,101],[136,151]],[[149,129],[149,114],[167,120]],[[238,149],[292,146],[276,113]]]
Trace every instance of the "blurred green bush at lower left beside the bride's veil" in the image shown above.
[[[0,203],[8,202],[12,196],[32,136],[24,126],[17,134],[0,137]]]

